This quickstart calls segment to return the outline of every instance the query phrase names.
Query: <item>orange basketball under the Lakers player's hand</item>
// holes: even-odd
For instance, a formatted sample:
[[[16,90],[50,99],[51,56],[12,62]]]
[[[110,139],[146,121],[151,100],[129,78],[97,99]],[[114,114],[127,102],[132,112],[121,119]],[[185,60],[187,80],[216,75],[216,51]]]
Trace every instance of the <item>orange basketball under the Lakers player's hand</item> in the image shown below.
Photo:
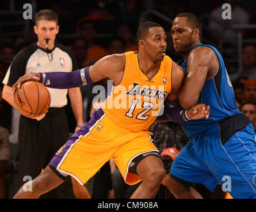
[[[25,117],[35,118],[50,106],[50,93],[38,81],[27,81],[15,92],[15,107]]]

